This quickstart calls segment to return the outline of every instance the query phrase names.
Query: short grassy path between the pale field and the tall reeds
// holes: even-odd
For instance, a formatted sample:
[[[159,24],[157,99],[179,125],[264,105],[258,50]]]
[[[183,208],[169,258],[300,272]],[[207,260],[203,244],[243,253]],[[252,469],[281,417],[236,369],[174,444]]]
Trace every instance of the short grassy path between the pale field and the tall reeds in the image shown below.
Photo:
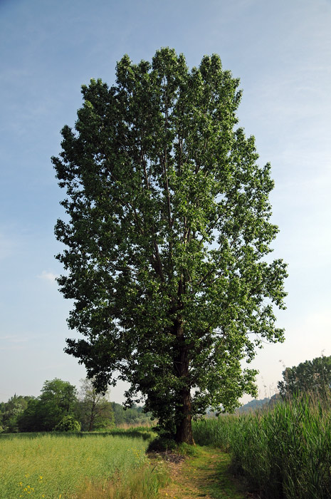
[[[167,457],[167,456],[166,456]],[[177,461],[177,462],[174,462]],[[196,455],[165,461],[170,483],[160,490],[160,499],[245,499],[245,493],[228,473],[228,454],[214,448],[198,447]]]

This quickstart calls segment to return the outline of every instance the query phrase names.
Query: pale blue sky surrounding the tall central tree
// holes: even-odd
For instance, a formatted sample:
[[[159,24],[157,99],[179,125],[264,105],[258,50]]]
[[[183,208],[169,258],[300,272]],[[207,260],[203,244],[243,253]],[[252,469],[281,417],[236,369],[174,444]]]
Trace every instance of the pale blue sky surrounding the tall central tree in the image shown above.
[[[288,309],[285,343],[264,345],[253,364],[260,396],[274,393],[284,365],[331,355],[330,26],[330,0],[0,0],[0,400],[85,377],[63,353],[73,333],[53,226],[64,193],[50,157],[75,123],[80,86],[112,84],[124,53],[150,60],[161,46],[189,66],[219,53],[241,78],[240,124],[272,165]],[[122,393],[120,384],[111,398]]]

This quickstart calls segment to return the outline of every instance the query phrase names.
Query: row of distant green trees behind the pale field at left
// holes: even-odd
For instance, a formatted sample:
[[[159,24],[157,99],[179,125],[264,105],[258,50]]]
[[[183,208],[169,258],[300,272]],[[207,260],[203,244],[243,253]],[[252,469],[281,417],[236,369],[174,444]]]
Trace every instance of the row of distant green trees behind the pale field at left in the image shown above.
[[[144,408],[125,409],[97,393],[89,379],[80,391],[68,381],[45,381],[41,395],[12,396],[0,403],[0,433],[28,431],[107,431],[119,425],[150,421]]]

